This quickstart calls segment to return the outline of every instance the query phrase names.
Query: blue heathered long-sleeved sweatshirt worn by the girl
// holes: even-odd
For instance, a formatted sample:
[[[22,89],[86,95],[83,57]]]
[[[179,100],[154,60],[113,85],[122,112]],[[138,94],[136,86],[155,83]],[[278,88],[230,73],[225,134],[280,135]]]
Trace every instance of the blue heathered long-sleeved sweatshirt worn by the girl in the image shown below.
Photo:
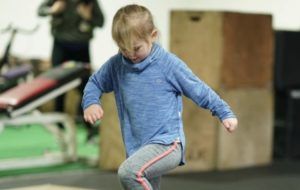
[[[83,109],[102,104],[100,97],[108,92],[115,95],[127,157],[146,144],[171,144],[176,139],[181,141],[184,154],[182,95],[220,120],[235,117],[182,60],[156,43],[150,55],[138,64],[121,53],[103,64],[84,89]]]

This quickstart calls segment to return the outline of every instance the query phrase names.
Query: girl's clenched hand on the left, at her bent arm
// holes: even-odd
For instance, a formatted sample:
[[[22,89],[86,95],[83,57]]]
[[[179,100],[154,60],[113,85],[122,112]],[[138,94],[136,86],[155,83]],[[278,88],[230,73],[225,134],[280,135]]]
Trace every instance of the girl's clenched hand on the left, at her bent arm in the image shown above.
[[[103,109],[98,104],[93,104],[83,111],[84,120],[90,124],[96,123],[103,117]]]

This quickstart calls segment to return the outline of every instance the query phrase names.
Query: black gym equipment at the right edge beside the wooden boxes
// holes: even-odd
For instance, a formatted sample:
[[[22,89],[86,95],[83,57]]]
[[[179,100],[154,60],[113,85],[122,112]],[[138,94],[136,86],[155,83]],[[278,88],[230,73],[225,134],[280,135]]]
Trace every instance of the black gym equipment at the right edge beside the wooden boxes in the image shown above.
[[[300,159],[300,32],[275,31],[274,158]]]

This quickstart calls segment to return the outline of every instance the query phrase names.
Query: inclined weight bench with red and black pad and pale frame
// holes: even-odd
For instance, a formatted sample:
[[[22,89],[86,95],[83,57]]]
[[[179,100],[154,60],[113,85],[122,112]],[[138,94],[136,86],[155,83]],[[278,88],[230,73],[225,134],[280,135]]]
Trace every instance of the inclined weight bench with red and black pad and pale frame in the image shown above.
[[[22,159],[22,162],[0,160],[0,170],[52,165],[77,159],[73,119],[64,113],[38,113],[36,108],[79,86],[82,77],[89,74],[88,64],[66,62],[0,94],[0,131],[8,126],[41,124],[55,135],[61,147],[61,154],[52,158]],[[58,123],[64,128],[58,127]]]

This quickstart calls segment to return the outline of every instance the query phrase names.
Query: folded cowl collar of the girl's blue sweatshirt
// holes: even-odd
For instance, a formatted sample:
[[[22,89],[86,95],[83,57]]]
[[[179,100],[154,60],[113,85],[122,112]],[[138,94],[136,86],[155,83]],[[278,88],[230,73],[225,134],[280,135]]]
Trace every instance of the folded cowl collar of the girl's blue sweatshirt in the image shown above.
[[[122,63],[132,71],[141,72],[151,63],[157,60],[160,57],[162,51],[163,49],[157,43],[153,43],[150,54],[143,61],[139,63],[133,63],[130,59],[122,56]]]

